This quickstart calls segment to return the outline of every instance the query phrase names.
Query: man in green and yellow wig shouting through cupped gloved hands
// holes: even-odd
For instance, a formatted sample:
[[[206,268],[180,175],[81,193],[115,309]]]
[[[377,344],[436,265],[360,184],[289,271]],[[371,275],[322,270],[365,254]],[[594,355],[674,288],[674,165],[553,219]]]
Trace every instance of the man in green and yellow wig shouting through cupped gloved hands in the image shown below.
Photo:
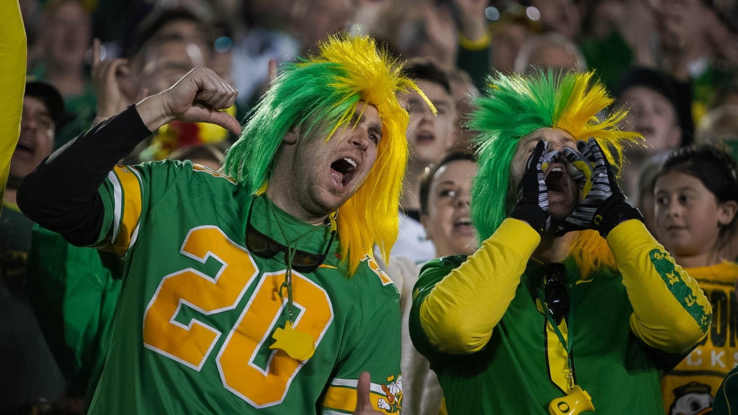
[[[483,243],[427,263],[410,314],[449,414],[663,414],[659,372],[706,334],[705,295],[618,187],[640,136],[596,117],[592,77],[497,74],[477,99]]]

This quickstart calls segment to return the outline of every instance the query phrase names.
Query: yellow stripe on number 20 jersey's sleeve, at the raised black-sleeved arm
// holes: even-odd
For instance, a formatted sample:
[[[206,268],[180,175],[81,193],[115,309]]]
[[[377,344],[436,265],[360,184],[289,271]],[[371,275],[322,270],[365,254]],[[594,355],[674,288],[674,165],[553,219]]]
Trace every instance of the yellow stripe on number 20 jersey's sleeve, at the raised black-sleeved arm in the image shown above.
[[[117,235],[114,235],[113,249],[118,255],[124,255],[128,247],[135,241],[139,219],[141,218],[141,182],[134,169],[117,165],[113,173],[120,184],[120,220]],[[118,219],[120,218],[120,219]]]

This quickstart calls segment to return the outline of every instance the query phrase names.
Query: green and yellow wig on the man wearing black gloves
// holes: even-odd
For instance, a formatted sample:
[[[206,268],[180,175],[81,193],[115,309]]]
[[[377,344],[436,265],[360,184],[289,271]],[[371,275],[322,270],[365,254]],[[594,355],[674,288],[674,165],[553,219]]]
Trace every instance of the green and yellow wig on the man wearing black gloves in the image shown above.
[[[613,166],[620,170],[624,143],[642,139],[641,134],[621,131],[618,123],[627,112],[612,112],[604,120],[597,115],[613,103],[593,72],[554,72],[539,69],[532,74],[488,78],[484,95],[476,100],[469,127],[477,134],[479,172],[472,188],[472,222],[480,240],[492,236],[510,213],[508,193],[511,161],[520,139],[538,128],[567,131],[575,140],[594,137]],[[569,253],[582,275],[602,265],[615,267],[607,242],[594,230],[578,232]]]

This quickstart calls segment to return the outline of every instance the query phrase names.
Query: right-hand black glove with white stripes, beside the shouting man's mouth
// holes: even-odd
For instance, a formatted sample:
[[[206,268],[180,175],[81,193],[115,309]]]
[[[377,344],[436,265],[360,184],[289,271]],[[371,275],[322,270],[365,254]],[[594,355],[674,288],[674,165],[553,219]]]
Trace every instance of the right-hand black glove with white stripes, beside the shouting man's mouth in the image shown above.
[[[641,212],[625,202],[625,196],[615,179],[615,172],[602,148],[590,137],[587,143],[576,143],[579,153],[564,148],[563,154],[581,174],[574,179],[582,191],[582,202],[576,210],[556,227],[556,236],[562,236],[572,230],[597,230],[603,238],[613,227],[628,219],[643,222]],[[585,180],[582,180],[582,177]]]

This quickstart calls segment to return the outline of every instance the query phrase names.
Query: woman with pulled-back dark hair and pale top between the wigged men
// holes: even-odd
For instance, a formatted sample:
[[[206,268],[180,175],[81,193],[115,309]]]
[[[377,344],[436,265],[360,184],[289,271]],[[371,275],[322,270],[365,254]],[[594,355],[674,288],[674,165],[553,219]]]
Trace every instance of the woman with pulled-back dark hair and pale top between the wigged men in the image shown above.
[[[451,152],[425,172],[420,185],[421,222],[435,244],[435,257],[472,255],[477,250],[469,219],[469,199],[477,165],[472,154]],[[438,415],[443,392],[428,360],[410,341],[408,319],[413,285],[420,266],[404,256],[393,257],[389,275],[400,292],[402,312],[402,385],[404,415]]]

